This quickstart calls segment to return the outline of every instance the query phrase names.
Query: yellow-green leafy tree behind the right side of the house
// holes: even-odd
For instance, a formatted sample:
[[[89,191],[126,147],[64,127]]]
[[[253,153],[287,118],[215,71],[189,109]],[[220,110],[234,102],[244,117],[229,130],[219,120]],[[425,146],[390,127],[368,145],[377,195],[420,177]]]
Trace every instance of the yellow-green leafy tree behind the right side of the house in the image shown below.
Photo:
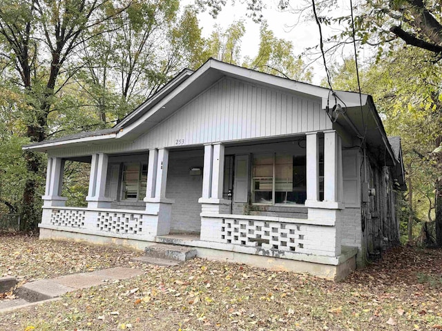
[[[431,58],[425,50],[396,48],[377,62],[372,59],[360,72],[361,89],[373,95],[387,134],[402,138],[410,241],[415,237],[416,221],[434,225],[437,214],[434,183],[441,174],[434,155],[434,140],[442,126],[438,85],[442,71],[430,61],[421,61],[416,70],[416,63],[425,57]],[[346,59],[331,72],[334,88],[358,90],[353,59]]]

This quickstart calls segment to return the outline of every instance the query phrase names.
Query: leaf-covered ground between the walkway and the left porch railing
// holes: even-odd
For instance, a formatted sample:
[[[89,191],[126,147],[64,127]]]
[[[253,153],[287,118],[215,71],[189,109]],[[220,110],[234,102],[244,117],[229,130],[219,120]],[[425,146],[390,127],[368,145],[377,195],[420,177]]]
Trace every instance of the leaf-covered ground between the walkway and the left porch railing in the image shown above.
[[[0,232],[0,277],[15,276],[18,285],[36,279],[127,266],[140,252],[72,241],[39,240]],[[0,300],[15,299],[10,292]]]

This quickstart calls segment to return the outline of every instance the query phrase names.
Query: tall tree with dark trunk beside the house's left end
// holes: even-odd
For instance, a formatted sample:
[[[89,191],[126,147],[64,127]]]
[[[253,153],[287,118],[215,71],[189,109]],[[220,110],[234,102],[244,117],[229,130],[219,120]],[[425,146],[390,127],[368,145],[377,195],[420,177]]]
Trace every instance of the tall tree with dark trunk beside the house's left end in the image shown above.
[[[126,5],[128,6],[128,5]],[[55,95],[66,86],[73,70],[70,58],[92,37],[94,29],[126,9],[110,0],[5,0],[0,3],[0,57],[8,79],[20,86],[30,106],[23,119],[31,142],[47,137],[48,116]],[[98,32],[99,33],[99,32]],[[41,157],[25,153],[28,177],[23,191],[23,224],[36,225],[35,176]]]

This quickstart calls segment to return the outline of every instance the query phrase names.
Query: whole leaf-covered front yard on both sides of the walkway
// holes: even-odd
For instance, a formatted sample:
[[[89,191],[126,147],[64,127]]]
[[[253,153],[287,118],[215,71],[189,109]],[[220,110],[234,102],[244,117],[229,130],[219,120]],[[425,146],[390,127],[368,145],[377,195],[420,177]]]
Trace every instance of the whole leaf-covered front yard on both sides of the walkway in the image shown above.
[[[204,259],[159,268],[131,263],[136,252],[27,237],[0,237],[0,250],[0,274],[25,280],[146,271],[0,314],[0,330],[442,330],[442,250],[396,248],[340,283]]]

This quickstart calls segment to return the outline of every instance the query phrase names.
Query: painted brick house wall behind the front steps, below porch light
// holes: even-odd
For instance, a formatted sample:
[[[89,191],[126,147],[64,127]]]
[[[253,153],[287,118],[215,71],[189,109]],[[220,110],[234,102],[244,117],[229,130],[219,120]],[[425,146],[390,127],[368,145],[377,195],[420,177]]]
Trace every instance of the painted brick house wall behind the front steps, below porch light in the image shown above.
[[[172,205],[171,231],[200,232],[201,205],[198,203],[202,195],[202,175],[191,176],[192,167],[203,165],[203,151],[200,156],[192,156],[192,152],[171,152],[167,171],[166,198],[174,199]]]

